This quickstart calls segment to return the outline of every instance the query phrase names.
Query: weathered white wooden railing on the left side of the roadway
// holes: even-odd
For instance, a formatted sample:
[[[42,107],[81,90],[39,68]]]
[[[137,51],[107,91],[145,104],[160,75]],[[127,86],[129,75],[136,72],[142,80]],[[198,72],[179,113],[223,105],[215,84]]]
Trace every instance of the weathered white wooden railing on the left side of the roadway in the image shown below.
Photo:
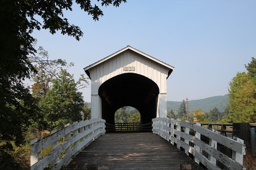
[[[33,139],[30,141],[30,168],[43,170],[51,164],[52,169],[59,170],[65,164],[68,165],[71,157],[76,156],[79,150],[83,150],[105,132],[105,120],[96,118],[67,124],[65,128],[54,130],[46,138]],[[59,144],[59,140],[63,137],[65,142]],[[51,146],[51,152],[41,158],[41,151],[48,146]]]

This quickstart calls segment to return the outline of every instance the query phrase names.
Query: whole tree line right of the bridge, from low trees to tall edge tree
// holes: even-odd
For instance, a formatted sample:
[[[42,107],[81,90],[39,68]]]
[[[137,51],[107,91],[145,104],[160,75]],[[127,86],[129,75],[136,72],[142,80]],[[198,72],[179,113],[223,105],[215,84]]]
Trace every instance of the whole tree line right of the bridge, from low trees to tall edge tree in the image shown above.
[[[247,72],[237,72],[236,76],[230,81],[229,103],[223,112],[218,108],[213,108],[209,112],[203,113],[202,109],[195,109],[190,115],[190,121],[197,118],[197,122],[249,122],[256,123],[256,59],[244,65]],[[187,120],[185,101],[179,106],[175,114],[171,109],[167,112],[168,118]]]

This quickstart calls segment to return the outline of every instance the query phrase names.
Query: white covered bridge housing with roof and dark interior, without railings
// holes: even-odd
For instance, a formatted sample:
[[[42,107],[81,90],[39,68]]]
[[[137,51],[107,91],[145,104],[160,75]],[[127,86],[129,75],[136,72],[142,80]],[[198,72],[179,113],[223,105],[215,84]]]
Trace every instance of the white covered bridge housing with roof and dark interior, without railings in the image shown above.
[[[166,81],[173,66],[131,46],[84,68],[91,79],[91,118],[115,123],[115,112],[131,106],[141,124],[167,114]]]

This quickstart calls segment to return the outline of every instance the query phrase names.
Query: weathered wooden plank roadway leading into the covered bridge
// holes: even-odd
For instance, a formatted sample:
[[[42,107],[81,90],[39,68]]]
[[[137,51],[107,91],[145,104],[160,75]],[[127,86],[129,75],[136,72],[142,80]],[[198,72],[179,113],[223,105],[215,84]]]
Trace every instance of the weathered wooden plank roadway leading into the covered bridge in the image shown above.
[[[180,170],[180,164],[191,164],[202,170],[184,152],[153,133],[106,133],[82,150],[66,170]]]

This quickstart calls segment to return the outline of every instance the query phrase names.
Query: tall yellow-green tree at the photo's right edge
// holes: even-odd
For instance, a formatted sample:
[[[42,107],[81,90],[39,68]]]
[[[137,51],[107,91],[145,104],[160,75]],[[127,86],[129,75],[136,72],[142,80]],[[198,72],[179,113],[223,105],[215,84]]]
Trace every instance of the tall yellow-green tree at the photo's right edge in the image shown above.
[[[229,88],[231,122],[256,122],[256,60],[245,66],[246,72],[238,72]]]

